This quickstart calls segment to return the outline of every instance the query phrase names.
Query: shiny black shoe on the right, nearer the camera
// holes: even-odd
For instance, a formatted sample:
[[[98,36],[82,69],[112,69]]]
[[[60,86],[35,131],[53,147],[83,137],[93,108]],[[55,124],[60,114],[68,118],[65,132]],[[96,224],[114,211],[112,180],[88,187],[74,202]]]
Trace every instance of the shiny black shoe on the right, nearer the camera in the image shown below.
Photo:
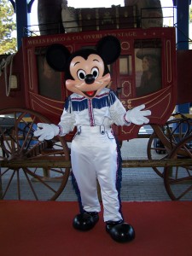
[[[132,241],[135,238],[135,231],[130,224],[119,221],[107,221],[106,231],[114,241],[125,242]]]

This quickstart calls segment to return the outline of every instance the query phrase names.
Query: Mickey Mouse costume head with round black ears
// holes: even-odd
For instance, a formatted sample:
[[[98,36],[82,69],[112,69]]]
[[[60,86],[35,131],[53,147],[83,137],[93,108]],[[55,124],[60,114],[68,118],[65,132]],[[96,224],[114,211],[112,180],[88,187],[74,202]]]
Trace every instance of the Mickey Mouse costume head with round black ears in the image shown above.
[[[55,71],[64,71],[67,90],[87,98],[95,97],[110,81],[108,64],[119,58],[118,38],[102,38],[96,49],[80,49],[70,54],[61,44],[52,44],[46,58]]]

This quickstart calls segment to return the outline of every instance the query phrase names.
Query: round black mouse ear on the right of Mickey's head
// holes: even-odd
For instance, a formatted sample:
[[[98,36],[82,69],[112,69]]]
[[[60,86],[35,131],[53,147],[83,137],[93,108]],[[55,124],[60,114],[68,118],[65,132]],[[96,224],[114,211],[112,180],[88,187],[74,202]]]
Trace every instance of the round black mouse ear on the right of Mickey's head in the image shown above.
[[[107,64],[111,64],[119,58],[120,50],[119,39],[113,36],[102,38],[96,45],[97,53]]]

